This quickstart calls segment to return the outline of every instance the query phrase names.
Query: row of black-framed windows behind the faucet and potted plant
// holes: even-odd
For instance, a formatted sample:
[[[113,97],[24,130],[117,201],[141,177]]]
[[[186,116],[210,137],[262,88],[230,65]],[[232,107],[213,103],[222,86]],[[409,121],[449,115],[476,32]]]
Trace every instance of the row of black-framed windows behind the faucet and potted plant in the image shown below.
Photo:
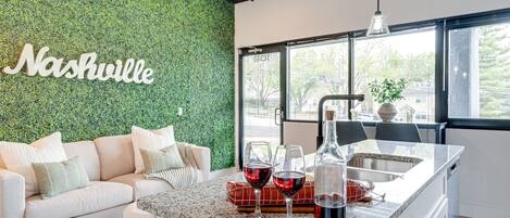
[[[360,30],[278,47],[288,49],[282,74],[286,120],[316,120],[322,97],[349,92],[364,94],[365,101],[326,106],[340,119],[350,111],[353,119],[378,120],[369,84],[406,78],[397,121],[413,117],[414,123],[510,130],[510,10],[393,26],[389,36],[378,38]]]

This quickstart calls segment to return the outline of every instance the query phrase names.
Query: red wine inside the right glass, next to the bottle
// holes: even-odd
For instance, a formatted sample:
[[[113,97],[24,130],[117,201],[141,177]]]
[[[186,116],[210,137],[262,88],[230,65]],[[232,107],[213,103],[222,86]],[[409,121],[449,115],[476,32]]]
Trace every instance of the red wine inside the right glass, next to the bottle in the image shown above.
[[[304,185],[304,174],[278,171],[273,175],[274,185],[287,197],[293,197]]]

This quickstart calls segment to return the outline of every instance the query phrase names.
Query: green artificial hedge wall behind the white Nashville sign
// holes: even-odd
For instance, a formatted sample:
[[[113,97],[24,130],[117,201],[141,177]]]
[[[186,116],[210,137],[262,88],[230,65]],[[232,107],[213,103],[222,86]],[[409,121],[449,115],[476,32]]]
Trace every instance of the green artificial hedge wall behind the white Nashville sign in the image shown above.
[[[0,67],[25,43],[97,63],[144,59],[152,85],[0,73],[0,141],[54,131],[90,140],[175,126],[176,139],[211,148],[212,168],[234,165],[234,9],[226,0],[8,0],[0,8]],[[177,108],[184,115],[177,116]]]

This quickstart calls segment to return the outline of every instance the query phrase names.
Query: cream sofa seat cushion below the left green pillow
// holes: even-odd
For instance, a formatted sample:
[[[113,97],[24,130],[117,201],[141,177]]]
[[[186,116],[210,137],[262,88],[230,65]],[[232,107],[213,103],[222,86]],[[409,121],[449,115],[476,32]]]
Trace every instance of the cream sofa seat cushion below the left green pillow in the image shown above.
[[[41,200],[26,200],[25,218],[64,218],[82,216],[133,202],[133,188],[116,182],[91,182],[90,185]]]

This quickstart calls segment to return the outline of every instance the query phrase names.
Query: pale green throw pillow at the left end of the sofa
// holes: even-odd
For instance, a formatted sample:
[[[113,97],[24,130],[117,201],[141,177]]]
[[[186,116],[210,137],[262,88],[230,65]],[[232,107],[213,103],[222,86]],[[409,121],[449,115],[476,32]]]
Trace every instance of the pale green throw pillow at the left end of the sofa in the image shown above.
[[[79,157],[57,163],[33,163],[37,185],[42,198],[84,188],[89,179]]]

